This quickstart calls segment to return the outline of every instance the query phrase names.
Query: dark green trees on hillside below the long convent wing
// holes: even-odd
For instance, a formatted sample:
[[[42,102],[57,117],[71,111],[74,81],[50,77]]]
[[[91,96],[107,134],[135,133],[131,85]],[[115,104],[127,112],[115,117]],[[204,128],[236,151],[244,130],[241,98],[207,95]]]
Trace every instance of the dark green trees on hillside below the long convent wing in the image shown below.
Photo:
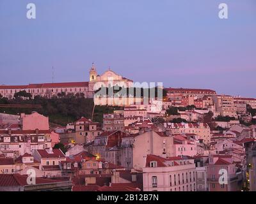
[[[53,98],[35,96],[31,98],[29,93],[17,93],[15,98],[8,99],[0,96],[0,104],[10,105],[41,105],[42,108],[0,108],[1,113],[30,114],[36,111],[49,117],[52,124],[65,126],[68,122],[74,122],[81,117],[92,118],[93,99],[84,98],[83,94],[60,93]],[[118,107],[95,106],[93,122],[102,122],[103,113],[111,113]]]

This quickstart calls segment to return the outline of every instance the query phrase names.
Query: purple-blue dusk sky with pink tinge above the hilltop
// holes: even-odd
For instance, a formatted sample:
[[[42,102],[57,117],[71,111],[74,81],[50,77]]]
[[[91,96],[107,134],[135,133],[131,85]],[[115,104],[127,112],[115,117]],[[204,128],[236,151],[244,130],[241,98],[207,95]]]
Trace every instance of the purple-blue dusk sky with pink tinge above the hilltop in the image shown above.
[[[88,81],[95,62],[134,82],[256,98],[255,0],[0,0],[0,26],[0,84],[51,82],[52,66],[54,82]]]

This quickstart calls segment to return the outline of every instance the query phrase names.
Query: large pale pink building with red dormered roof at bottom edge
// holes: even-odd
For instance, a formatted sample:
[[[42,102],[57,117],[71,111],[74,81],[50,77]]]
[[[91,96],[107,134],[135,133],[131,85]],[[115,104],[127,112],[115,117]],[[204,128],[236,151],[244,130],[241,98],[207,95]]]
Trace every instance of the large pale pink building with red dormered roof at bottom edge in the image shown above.
[[[196,191],[194,159],[148,154],[143,168],[143,191]]]

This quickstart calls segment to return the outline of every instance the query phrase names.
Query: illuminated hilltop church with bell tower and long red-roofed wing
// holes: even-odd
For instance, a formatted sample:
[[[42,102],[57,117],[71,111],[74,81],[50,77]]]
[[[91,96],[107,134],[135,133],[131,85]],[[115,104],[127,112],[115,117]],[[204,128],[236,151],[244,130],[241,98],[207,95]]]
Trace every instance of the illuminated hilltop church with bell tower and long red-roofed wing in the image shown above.
[[[90,78],[88,82],[63,82],[63,83],[45,83],[28,85],[0,85],[0,94],[3,97],[12,99],[14,94],[20,91],[26,91],[35,96],[52,98],[64,92],[65,94],[84,94],[85,98],[93,98],[94,91],[101,86],[120,85],[129,87],[132,80],[116,74],[111,69],[105,71],[102,75],[97,74],[95,64],[90,68]]]

